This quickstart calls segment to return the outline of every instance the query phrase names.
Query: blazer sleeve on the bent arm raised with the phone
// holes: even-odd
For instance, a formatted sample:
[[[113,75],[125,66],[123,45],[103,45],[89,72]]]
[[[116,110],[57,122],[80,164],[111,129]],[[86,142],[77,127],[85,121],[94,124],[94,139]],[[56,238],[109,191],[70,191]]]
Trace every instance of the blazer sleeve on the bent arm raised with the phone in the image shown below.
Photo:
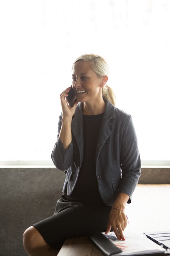
[[[73,162],[73,143],[71,142],[68,149],[64,148],[62,141],[59,138],[61,126],[62,126],[62,114],[59,117],[57,142],[55,143],[55,146],[53,148],[51,158],[58,170],[65,171],[72,165],[72,162]]]

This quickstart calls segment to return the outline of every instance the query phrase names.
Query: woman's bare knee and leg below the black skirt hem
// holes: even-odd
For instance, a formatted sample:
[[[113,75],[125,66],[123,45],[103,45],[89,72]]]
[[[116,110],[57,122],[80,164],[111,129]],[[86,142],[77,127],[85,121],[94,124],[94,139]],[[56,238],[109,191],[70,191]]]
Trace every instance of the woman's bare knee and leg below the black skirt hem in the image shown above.
[[[52,249],[35,227],[31,226],[23,234],[24,249],[29,256],[56,256],[59,250]]]

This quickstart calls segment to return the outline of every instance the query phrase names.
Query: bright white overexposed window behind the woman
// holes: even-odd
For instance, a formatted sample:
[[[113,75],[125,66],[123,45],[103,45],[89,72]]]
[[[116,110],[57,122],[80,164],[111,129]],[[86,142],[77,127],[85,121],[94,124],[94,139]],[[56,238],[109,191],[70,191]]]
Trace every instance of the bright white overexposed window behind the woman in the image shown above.
[[[169,0],[1,1],[0,35],[1,163],[51,162],[60,93],[86,53],[108,61],[142,161],[170,161]]]

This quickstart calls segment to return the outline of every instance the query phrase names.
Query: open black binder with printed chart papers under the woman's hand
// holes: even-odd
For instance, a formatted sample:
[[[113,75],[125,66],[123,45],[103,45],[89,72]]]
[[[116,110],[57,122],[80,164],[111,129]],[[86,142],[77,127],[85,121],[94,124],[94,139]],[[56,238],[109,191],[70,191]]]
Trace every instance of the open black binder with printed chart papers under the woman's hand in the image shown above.
[[[149,233],[151,234],[151,233]],[[88,238],[106,256],[168,256],[170,249],[149,234],[124,231],[125,241],[118,240],[114,232],[105,235],[101,232],[88,233]],[[159,233],[160,234],[160,233]],[[161,241],[162,242],[162,241]]]

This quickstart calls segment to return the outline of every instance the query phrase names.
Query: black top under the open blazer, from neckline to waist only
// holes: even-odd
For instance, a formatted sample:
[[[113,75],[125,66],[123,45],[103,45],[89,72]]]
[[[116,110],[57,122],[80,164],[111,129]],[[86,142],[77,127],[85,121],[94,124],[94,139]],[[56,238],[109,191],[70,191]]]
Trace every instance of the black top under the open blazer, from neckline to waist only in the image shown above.
[[[84,158],[72,194],[62,194],[64,201],[104,204],[99,194],[95,166],[96,146],[103,115],[104,113],[83,115]]]

